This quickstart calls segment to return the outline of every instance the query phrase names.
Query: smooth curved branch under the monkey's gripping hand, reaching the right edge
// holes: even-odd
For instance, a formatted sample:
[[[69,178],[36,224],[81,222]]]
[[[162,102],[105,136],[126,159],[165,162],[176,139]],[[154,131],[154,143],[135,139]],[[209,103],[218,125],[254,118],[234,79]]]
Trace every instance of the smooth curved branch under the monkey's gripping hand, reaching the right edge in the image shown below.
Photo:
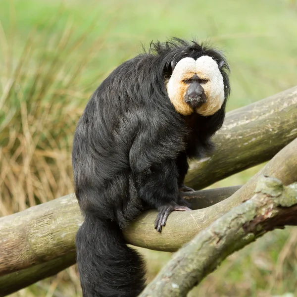
[[[259,175],[265,174],[280,179],[285,185],[297,182],[297,139],[277,153],[265,167],[251,178],[231,197],[204,209],[191,212],[174,211],[170,214],[161,234],[153,229],[157,212],[150,210],[124,230],[130,244],[138,247],[162,251],[176,251],[189,242],[201,230],[220,218],[232,207],[249,199],[256,186]]]

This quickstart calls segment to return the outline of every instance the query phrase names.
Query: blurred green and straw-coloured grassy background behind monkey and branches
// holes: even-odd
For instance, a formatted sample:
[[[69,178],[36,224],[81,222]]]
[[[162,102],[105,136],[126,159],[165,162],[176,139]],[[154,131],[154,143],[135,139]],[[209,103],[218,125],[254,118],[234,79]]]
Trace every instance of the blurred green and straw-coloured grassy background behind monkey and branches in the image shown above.
[[[0,0],[0,216],[73,192],[73,133],[90,95],[141,44],[171,36],[225,51],[228,110],[297,84],[297,0]],[[141,251],[149,281],[171,254]],[[81,296],[76,267],[11,296]],[[297,229],[231,255],[189,296],[297,296]]]

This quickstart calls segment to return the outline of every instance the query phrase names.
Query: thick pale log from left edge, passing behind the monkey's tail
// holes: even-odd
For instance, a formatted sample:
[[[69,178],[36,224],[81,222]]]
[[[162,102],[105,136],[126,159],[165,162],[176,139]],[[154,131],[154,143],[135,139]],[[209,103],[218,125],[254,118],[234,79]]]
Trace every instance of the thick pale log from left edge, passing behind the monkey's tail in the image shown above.
[[[196,191],[184,197],[197,209],[222,201],[239,188]],[[75,252],[82,220],[74,194],[0,218],[0,276]]]

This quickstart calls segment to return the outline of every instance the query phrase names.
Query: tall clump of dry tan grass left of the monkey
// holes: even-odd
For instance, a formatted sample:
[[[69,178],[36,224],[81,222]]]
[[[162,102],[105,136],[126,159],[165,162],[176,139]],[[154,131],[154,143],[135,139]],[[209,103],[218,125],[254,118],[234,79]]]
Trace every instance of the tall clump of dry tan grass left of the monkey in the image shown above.
[[[53,35],[49,27],[45,38],[34,30],[18,54],[1,30],[0,215],[73,192],[69,151],[90,96],[80,78],[93,50],[82,50],[87,34],[74,31],[67,24]]]

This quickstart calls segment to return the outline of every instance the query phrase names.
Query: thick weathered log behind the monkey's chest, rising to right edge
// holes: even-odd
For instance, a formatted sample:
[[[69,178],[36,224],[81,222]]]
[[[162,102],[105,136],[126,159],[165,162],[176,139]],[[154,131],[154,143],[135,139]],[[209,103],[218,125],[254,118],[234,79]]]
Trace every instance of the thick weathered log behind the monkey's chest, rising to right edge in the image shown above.
[[[192,161],[186,184],[196,190],[270,160],[297,137],[297,86],[230,111],[213,137],[211,157]]]

